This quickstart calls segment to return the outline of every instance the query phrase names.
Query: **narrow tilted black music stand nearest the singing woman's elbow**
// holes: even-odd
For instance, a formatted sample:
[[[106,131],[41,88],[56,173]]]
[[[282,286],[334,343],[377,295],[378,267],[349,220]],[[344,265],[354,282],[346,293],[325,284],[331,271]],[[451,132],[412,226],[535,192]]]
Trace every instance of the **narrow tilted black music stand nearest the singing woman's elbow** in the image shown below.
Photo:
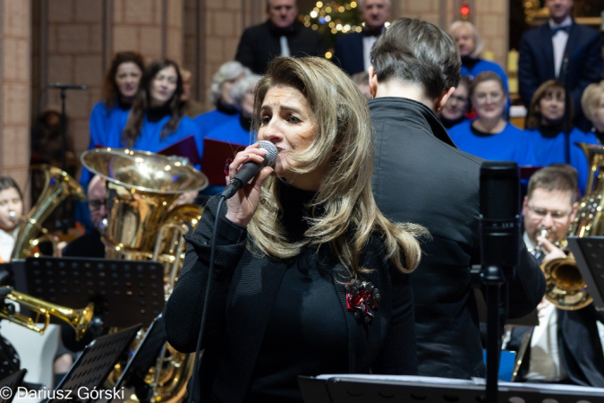
[[[134,388],[134,393],[140,403],[151,401],[153,388],[145,382],[145,376],[147,376],[149,368],[156,364],[157,356],[162,352],[165,344],[164,319],[159,315],[149,326],[139,347],[123,369],[122,376],[115,382],[114,390],[122,387]]]

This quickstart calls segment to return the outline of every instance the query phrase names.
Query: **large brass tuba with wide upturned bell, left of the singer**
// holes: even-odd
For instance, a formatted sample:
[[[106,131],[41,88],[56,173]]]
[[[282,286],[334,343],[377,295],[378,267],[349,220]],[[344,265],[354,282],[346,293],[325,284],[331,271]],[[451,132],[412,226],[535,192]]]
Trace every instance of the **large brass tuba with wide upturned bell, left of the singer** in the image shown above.
[[[174,201],[181,193],[204,189],[207,177],[186,161],[143,151],[89,150],[82,154],[81,161],[106,179],[108,217],[102,233],[106,257],[162,262],[167,298],[183,266],[183,235],[201,217],[199,206],[174,207]],[[132,349],[142,336],[133,342]],[[162,356],[145,378],[153,388],[151,401],[182,399],[192,364],[193,356],[166,343]],[[109,382],[115,384],[122,371],[120,364],[115,365]],[[129,400],[137,399],[131,396]]]

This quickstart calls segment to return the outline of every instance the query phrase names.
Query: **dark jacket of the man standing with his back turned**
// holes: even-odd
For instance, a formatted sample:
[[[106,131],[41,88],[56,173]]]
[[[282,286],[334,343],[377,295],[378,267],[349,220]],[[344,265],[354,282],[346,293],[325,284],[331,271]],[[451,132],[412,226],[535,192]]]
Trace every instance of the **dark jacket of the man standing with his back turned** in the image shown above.
[[[481,262],[480,171],[483,159],[455,148],[438,117],[403,98],[369,101],[376,134],[373,193],[387,219],[427,227],[411,279],[421,375],[484,376],[472,264]],[[520,245],[509,285],[509,316],[531,313],[545,290],[537,261]]]

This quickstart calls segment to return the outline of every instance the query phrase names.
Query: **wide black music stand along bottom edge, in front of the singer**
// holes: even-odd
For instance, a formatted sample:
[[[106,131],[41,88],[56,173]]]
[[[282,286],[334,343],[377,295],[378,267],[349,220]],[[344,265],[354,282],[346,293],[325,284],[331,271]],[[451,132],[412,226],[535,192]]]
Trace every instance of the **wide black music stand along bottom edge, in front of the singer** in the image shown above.
[[[381,379],[380,379],[381,378]],[[329,378],[298,377],[307,403],[405,403],[484,402],[485,385],[472,381],[376,375],[333,375]],[[551,399],[551,400],[549,400]],[[604,403],[604,390],[547,383],[499,382],[498,402]]]

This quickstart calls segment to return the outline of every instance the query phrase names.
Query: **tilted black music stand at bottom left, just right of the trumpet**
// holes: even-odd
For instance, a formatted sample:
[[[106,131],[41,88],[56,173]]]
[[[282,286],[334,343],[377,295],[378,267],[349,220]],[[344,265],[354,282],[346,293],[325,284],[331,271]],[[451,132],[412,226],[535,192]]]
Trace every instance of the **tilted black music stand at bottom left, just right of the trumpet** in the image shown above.
[[[92,341],[84,348],[63,381],[55,388],[53,399],[48,399],[46,403],[51,401],[84,403],[99,399],[99,395],[91,391],[102,389],[103,382],[114,369],[120,356],[130,346],[140,328],[141,325],[138,324]],[[71,393],[67,393],[70,390]]]

